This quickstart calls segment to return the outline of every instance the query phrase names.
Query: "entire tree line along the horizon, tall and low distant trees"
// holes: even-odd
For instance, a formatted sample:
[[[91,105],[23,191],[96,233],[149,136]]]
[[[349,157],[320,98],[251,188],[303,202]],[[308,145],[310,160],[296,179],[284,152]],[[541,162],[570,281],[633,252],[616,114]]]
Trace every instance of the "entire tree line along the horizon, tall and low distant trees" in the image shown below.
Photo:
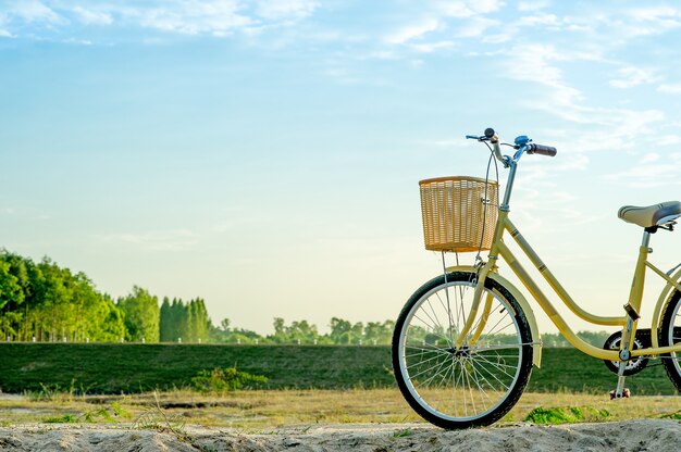
[[[0,340],[385,346],[395,323],[332,317],[326,334],[308,321],[286,324],[275,317],[272,326],[274,332],[265,336],[233,327],[228,318],[214,326],[202,299],[185,302],[165,297],[159,303],[158,297],[138,286],[114,300],[98,291],[83,272],[60,267],[50,258],[36,263],[0,250]],[[580,331],[578,336],[602,347],[608,334]],[[542,339],[546,347],[570,347],[558,334]],[[423,341],[431,340],[423,330]]]

